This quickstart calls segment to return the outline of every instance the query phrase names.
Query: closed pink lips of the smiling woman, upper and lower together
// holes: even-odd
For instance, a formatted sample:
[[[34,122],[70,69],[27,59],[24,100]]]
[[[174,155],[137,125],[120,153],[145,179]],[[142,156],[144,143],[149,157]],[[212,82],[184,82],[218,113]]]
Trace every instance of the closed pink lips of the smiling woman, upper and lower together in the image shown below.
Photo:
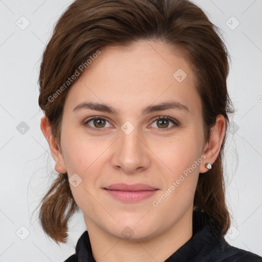
[[[136,202],[146,199],[154,194],[158,189],[145,184],[113,184],[104,188],[112,197],[125,201]]]

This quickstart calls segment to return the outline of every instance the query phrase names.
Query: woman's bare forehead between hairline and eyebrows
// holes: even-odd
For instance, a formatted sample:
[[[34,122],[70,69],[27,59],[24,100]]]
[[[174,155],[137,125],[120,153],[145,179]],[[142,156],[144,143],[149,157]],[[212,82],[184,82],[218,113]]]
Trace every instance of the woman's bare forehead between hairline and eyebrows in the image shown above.
[[[71,111],[85,100],[111,104],[120,112],[170,98],[189,110],[199,106],[191,64],[163,42],[107,46],[100,52],[69,90],[65,103]]]

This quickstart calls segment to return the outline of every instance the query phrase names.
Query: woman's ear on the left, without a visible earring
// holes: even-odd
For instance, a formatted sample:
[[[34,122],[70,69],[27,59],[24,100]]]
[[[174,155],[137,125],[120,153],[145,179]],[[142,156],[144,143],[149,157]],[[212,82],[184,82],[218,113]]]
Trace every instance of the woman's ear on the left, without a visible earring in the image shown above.
[[[40,128],[49,144],[52,157],[55,161],[55,170],[59,173],[67,172],[67,169],[65,168],[65,164],[64,164],[63,155],[59,149],[56,139],[54,139],[52,135],[52,128],[46,116],[43,116],[41,118]]]

